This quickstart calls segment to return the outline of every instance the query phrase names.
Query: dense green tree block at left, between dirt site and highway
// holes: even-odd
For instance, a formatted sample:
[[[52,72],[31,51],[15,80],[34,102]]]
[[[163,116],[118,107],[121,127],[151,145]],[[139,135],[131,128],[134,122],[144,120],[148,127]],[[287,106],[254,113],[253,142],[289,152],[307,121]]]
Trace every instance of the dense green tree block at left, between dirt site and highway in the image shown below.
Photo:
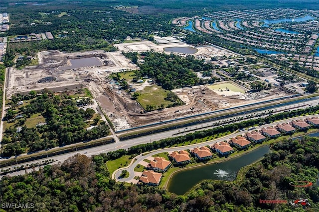
[[[81,141],[93,140],[109,135],[110,130],[106,123],[101,122],[95,128],[86,130],[87,120],[90,120],[95,111],[91,108],[79,109],[76,100],[67,95],[54,95],[43,93],[35,96],[35,92],[24,97],[13,97],[11,109],[6,112],[6,120],[15,124],[7,128],[1,144],[6,144],[2,149],[2,156],[12,156],[26,151],[38,151],[55,146],[71,144]],[[17,107],[21,99],[31,99],[29,104]],[[28,128],[25,122],[32,115],[42,115],[45,125]],[[16,118],[17,115],[22,117]],[[96,123],[98,123],[97,120]],[[21,126],[17,132],[16,127]]]

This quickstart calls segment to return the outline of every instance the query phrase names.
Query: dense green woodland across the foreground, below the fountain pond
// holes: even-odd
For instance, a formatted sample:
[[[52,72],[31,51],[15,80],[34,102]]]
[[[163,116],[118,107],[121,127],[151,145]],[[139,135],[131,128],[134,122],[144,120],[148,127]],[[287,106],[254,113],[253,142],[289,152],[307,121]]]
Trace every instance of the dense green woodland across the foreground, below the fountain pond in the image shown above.
[[[281,141],[257,164],[246,169],[243,180],[205,181],[181,196],[157,187],[116,183],[110,179],[106,154],[77,155],[39,171],[1,179],[1,203],[34,203],[28,211],[132,212],[290,212],[304,211],[286,204],[259,204],[266,189],[293,190],[290,182],[318,178],[318,138]],[[304,190],[304,198],[319,207],[319,189]],[[293,201],[293,200],[291,200]],[[14,210],[7,210],[14,211]]]

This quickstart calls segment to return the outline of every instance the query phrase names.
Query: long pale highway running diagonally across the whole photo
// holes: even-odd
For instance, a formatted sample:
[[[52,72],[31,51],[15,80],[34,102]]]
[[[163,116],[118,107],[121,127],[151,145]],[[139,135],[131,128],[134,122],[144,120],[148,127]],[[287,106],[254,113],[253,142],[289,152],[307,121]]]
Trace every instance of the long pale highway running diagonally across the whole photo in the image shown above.
[[[306,108],[306,107],[311,107],[311,106],[316,106],[319,103],[319,99],[312,99],[309,101],[306,101],[305,103],[296,103],[293,105],[285,105],[282,107],[278,107],[275,109],[275,111],[277,110],[277,112],[275,113],[279,113],[280,111],[288,111],[290,110],[290,108],[294,108],[294,109],[298,109],[298,108]],[[259,113],[262,112],[266,112],[267,113],[268,110],[265,111],[260,111]],[[251,113],[251,114],[245,114],[245,116],[250,116],[250,115],[256,115],[258,113]],[[311,116],[305,116],[305,117],[313,117],[314,115]],[[242,116],[238,116],[238,117],[231,117],[233,120],[236,120],[236,118],[240,118]],[[256,117],[259,118],[259,117]],[[296,118],[295,118],[296,119]],[[75,154],[86,154],[87,156],[92,156],[92,155],[97,155],[100,153],[106,153],[109,151],[115,151],[117,149],[129,149],[131,146],[135,146],[138,144],[143,144],[143,143],[148,143],[148,142],[153,142],[153,141],[158,141],[161,139],[165,139],[165,138],[170,138],[170,137],[175,137],[175,136],[181,136],[181,135],[186,135],[187,133],[192,133],[197,131],[197,129],[199,130],[201,128],[201,130],[203,130],[203,128],[205,129],[210,129],[212,128],[211,126],[215,123],[220,123],[220,125],[223,125],[223,122],[228,122],[230,121],[230,119],[224,119],[224,120],[218,120],[218,121],[212,121],[212,122],[207,122],[205,124],[198,124],[198,125],[193,125],[191,127],[188,128],[183,128],[183,129],[174,129],[171,131],[165,131],[162,133],[158,133],[158,134],[153,134],[153,135],[148,135],[145,137],[139,137],[139,138],[135,138],[135,139],[130,139],[130,140],[126,140],[126,141],[120,141],[120,142],[115,142],[115,143],[110,143],[107,145],[103,145],[103,146],[97,146],[97,147],[93,147],[93,148],[88,148],[88,149],[84,149],[84,150],[79,150],[79,151],[75,151],[75,152],[70,152],[70,153],[66,153],[66,154],[61,154],[61,155],[57,155],[57,156],[53,156],[53,157],[48,157],[46,159],[53,159],[55,162],[54,163],[58,163],[58,162],[63,162],[65,159],[67,159],[68,157],[71,157]],[[237,121],[234,121],[237,122]],[[240,121],[238,121],[240,122]],[[283,122],[287,122],[287,120],[284,120]],[[167,151],[167,150],[166,150]],[[85,153],[87,152],[87,153]],[[40,159],[40,160],[34,160],[32,162],[27,162],[27,163],[18,163],[15,166],[21,166],[24,165],[24,167],[26,167],[26,164],[31,164],[31,163],[42,163],[42,161],[45,160]],[[13,170],[13,166],[7,166],[7,167],[0,167],[1,169],[7,169],[7,168],[11,168],[11,170]],[[8,175],[17,175],[17,173],[19,172],[13,172],[10,173]],[[23,172],[24,173],[24,172]]]

